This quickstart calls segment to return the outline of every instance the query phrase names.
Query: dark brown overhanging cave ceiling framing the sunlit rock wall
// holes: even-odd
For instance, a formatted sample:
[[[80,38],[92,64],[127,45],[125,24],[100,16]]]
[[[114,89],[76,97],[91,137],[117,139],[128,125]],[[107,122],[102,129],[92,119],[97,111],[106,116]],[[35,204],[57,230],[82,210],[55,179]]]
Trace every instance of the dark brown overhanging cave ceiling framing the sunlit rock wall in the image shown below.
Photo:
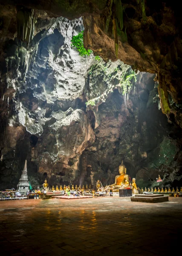
[[[16,33],[17,11],[15,8],[9,12],[7,6],[45,11],[49,17],[82,16],[84,46],[105,61],[118,58],[135,70],[156,73],[162,111],[169,121],[175,120],[182,127],[182,22],[173,1],[7,0],[0,3],[6,4],[5,13],[2,12],[4,23],[7,25],[5,15],[11,15],[12,19],[8,24],[11,31],[5,29],[2,35],[5,38]]]

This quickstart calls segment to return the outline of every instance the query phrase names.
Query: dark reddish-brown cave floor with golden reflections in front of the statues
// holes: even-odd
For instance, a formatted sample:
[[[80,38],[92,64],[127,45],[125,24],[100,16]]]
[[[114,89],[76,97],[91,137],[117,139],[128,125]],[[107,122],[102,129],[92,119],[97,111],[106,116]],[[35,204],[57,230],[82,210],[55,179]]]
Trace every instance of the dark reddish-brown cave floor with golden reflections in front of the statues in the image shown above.
[[[1,256],[181,255],[181,239],[182,198],[0,201]]]

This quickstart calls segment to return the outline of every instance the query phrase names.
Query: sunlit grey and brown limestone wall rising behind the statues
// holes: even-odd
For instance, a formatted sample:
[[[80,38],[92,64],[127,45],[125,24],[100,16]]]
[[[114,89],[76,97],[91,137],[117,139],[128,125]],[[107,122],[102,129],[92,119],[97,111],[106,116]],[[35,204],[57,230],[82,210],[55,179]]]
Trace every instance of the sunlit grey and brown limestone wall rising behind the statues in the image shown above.
[[[180,183],[180,131],[159,110],[155,75],[138,74],[126,108],[120,81],[131,67],[79,56],[70,41],[81,19],[34,15],[28,49],[13,29],[6,38],[9,24],[2,32],[0,188],[16,187],[25,159],[32,185],[113,183],[121,160],[137,180]]]

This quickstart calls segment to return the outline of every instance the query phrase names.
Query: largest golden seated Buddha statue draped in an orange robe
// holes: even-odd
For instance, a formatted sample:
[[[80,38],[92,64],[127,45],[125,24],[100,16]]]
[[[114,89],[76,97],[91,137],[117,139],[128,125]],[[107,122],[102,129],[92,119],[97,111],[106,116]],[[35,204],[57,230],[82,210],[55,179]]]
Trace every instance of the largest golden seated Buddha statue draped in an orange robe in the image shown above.
[[[119,192],[119,189],[125,184],[125,180],[128,182],[130,181],[130,176],[126,174],[126,170],[127,169],[122,161],[118,168],[119,175],[116,175],[115,183],[110,185],[110,187],[113,188],[113,192]]]

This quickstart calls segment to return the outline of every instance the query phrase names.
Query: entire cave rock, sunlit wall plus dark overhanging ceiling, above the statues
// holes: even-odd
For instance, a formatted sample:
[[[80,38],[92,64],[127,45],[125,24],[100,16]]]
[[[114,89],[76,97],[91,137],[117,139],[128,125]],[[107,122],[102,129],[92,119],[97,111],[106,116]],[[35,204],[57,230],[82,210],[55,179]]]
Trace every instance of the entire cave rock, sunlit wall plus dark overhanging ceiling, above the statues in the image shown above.
[[[21,3],[34,8],[33,16],[8,6],[9,1],[1,6],[1,187],[17,184],[26,157],[30,178],[38,184],[44,177],[49,184],[93,184],[98,177],[103,184],[112,183],[122,159],[138,180],[154,180],[161,172],[166,183],[181,182],[180,46],[174,6],[163,3],[159,12],[150,4],[144,20],[136,1],[123,4],[126,33],[118,36],[118,58],[133,69],[157,73],[155,86],[155,75],[139,73],[127,100],[120,82],[130,67],[116,61],[112,22],[105,31],[110,1],[89,2],[86,8],[84,1],[81,7],[72,1],[72,9],[57,2]],[[26,35],[20,29],[22,10],[29,13]],[[55,18],[60,15],[84,15],[85,47],[107,63],[78,55],[70,40],[83,30],[82,20]],[[86,108],[89,100],[95,106]]]

